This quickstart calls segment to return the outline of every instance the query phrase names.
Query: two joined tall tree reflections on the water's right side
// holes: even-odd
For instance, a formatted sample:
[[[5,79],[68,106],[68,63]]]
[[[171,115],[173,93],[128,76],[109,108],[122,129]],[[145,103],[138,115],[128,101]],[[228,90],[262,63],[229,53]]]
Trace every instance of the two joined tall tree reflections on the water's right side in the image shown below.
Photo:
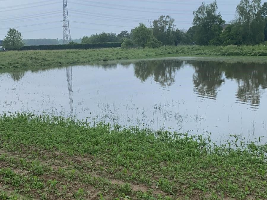
[[[244,103],[260,104],[260,85],[267,88],[267,65],[255,63],[222,63],[188,61],[196,71],[193,75],[194,91],[206,97],[217,97],[223,73],[238,82],[236,97]]]

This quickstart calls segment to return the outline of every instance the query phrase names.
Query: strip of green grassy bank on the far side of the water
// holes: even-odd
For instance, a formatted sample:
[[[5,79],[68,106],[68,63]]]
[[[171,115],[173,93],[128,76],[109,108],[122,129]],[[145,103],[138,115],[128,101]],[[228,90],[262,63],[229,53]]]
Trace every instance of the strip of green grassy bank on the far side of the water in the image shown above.
[[[267,60],[267,47],[179,46],[158,49],[88,49],[54,51],[10,51],[0,53],[0,69],[58,67],[106,60],[146,59],[175,56],[262,56]]]

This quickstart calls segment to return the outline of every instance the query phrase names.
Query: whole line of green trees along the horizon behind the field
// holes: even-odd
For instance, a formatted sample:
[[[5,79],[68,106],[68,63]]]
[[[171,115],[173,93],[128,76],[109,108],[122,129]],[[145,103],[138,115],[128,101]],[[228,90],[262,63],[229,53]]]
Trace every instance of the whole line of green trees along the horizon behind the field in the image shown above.
[[[162,45],[255,45],[267,41],[267,2],[261,5],[261,0],[241,0],[236,7],[236,17],[229,24],[218,12],[217,2],[203,2],[193,11],[193,23],[187,31],[176,29],[174,19],[169,15],[161,15],[147,27],[140,23],[130,32],[100,33],[75,39],[70,44],[91,44],[116,42],[122,43],[122,48],[150,47]],[[3,41],[7,49],[20,49],[26,45],[62,44],[63,40],[33,39],[22,40],[21,33],[10,29]]]

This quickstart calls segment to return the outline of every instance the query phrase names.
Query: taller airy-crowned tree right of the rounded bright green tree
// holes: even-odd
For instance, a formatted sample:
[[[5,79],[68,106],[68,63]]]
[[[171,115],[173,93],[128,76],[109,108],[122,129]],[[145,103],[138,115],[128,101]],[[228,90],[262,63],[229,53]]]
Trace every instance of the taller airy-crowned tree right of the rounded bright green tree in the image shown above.
[[[153,21],[153,35],[158,41],[161,41],[164,46],[173,44],[174,42],[174,19],[169,15],[161,15],[157,20]]]

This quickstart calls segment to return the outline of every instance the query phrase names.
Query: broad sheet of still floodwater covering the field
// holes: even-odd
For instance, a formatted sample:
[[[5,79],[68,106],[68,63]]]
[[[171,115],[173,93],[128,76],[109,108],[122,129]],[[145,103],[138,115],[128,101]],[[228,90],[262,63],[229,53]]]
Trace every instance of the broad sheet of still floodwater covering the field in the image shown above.
[[[267,137],[267,64],[141,60],[0,74],[0,112],[31,111],[223,140]]]

